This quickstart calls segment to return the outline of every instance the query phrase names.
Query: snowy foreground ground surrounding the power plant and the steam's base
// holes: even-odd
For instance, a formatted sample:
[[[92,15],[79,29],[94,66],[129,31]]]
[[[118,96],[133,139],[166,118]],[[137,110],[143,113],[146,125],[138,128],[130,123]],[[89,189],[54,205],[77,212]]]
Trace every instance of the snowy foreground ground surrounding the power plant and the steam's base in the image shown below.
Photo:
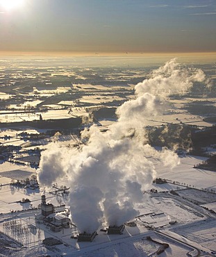
[[[193,168],[194,164],[200,163],[202,160],[203,158],[185,156],[181,158],[181,164],[172,170],[159,167],[155,161],[157,176],[177,181],[178,184],[165,183],[159,185],[153,183],[151,188],[158,190],[158,192],[145,192],[143,204],[136,206],[137,210],[140,211],[139,217],[134,219],[137,226],[126,226],[123,235],[107,235],[105,232],[97,231],[99,235],[93,242],[78,243],[75,239],[70,238],[72,234],[77,234],[73,226],[58,233],[53,233],[48,226],[35,222],[34,215],[40,213],[40,209],[38,210],[37,207],[40,204],[43,189],[30,190],[2,185],[0,188],[0,213],[2,213],[0,215],[0,231],[27,247],[26,249],[10,252],[10,256],[33,256],[35,254],[38,254],[38,256],[49,254],[50,256],[90,257],[156,256],[160,244],[149,242],[146,239],[147,235],[169,244],[169,248],[163,254],[160,254],[163,257],[186,256],[189,252],[193,253],[192,256],[196,256],[197,246],[204,251],[215,251],[215,215],[201,206],[213,210],[216,194],[198,189],[209,188],[215,190],[216,174],[215,172]],[[3,176],[12,175],[13,172],[16,176],[19,174],[21,176],[21,173],[34,174],[35,172],[35,169],[30,167],[23,166],[21,168],[19,165],[9,163],[3,163],[0,167]],[[22,172],[18,172],[19,170]],[[181,170],[181,174],[179,170]],[[194,179],[194,176],[196,179]],[[187,188],[187,185],[190,188]],[[178,195],[171,194],[171,190],[176,191]],[[63,197],[60,193],[58,195],[49,192],[44,193],[47,201],[54,206],[60,206],[61,204],[67,206],[66,195]],[[7,197],[5,197],[6,195]],[[17,202],[23,198],[28,198],[31,202],[26,204]],[[197,201],[199,205],[194,204],[194,201]],[[210,208],[211,206],[213,208]],[[56,209],[58,208],[60,207],[56,207]],[[19,212],[10,213],[10,210],[19,210]],[[169,222],[176,222],[176,224],[171,225]],[[174,238],[148,229],[159,229],[160,232],[166,234],[172,232],[170,235]],[[47,237],[59,238],[63,241],[63,244],[51,248],[43,247],[42,240]],[[178,240],[181,240],[181,242]],[[3,253],[8,256],[8,249],[4,249]]]

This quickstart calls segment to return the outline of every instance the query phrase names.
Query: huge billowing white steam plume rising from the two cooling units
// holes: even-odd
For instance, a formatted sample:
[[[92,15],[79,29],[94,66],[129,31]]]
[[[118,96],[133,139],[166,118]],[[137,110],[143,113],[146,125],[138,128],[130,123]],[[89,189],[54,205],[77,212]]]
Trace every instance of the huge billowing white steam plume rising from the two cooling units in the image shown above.
[[[143,201],[143,191],[156,177],[149,157],[169,167],[178,164],[172,151],[156,151],[147,144],[146,120],[166,110],[169,94],[183,94],[194,81],[204,80],[200,69],[170,60],[135,86],[136,99],[117,108],[119,118],[109,131],[91,126],[82,132],[87,142],[80,149],[52,144],[44,151],[40,184],[49,187],[67,176],[70,212],[79,231],[91,233],[103,222],[120,225],[138,215],[134,204]]]

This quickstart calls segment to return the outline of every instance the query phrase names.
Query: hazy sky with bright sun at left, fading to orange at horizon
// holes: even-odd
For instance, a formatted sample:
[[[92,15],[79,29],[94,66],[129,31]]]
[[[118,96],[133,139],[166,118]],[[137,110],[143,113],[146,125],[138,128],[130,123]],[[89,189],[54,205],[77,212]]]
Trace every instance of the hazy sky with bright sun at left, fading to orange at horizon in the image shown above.
[[[216,51],[216,0],[0,0],[0,51]]]

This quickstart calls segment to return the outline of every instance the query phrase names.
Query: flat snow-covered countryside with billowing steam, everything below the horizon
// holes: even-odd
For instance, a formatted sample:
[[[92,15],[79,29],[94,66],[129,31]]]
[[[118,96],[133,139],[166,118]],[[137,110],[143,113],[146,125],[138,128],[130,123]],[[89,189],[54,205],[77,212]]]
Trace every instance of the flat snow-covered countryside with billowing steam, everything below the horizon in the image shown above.
[[[1,59],[2,256],[215,256],[215,66],[142,62]]]

